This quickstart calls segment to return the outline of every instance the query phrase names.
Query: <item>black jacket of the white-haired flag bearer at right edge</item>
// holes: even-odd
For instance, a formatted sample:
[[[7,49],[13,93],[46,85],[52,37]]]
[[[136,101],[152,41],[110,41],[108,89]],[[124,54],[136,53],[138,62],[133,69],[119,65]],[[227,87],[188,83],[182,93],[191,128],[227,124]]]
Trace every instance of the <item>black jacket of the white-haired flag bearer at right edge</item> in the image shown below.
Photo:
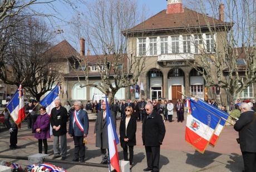
[[[240,149],[242,152],[256,153],[256,120],[254,120],[254,115],[256,114],[252,110],[244,112],[234,125],[234,129],[239,131]]]

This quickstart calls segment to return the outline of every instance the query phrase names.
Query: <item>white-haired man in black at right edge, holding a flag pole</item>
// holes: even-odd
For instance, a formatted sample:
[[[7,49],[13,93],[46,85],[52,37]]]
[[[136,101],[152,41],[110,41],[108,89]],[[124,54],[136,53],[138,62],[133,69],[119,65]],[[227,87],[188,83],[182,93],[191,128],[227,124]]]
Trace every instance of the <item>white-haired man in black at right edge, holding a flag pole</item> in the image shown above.
[[[247,103],[240,104],[241,115],[234,129],[239,131],[245,172],[256,171],[256,114]]]

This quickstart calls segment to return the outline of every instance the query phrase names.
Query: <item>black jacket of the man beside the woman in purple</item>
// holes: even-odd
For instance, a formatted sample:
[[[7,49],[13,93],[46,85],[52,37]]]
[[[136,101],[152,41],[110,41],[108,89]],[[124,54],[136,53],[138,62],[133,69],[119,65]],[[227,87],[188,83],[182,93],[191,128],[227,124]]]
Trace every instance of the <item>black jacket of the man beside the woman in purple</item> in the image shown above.
[[[52,127],[55,125],[58,127],[58,125],[61,125],[61,128],[56,131],[55,129],[52,129],[52,134],[54,136],[60,136],[67,133],[67,109],[64,107],[60,107],[60,110],[57,113],[56,107],[52,109],[51,111],[51,125]]]

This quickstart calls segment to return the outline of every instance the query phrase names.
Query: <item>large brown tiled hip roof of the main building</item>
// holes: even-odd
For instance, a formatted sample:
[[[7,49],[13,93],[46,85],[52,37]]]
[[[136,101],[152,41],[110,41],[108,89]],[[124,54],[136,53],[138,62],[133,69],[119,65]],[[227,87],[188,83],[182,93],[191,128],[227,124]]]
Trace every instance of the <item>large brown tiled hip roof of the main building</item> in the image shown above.
[[[159,29],[173,29],[184,27],[198,27],[208,25],[228,24],[205,14],[198,13],[189,8],[184,8],[183,13],[167,14],[166,9],[155,14],[137,26],[128,29],[127,32],[151,31]],[[125,33],[126,31],[124,31]]]

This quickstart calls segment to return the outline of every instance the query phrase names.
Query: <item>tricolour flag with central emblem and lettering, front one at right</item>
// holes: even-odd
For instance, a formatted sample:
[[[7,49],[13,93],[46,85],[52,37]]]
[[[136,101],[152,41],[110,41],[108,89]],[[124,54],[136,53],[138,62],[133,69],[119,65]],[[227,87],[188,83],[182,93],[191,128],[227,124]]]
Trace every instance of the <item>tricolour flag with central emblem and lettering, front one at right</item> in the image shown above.
[[[191,98],[189,100],[191,114],[188,115],[186,120],[185,140],[200,153],[204,153],[220,122],[220,118],[195,100]]]

